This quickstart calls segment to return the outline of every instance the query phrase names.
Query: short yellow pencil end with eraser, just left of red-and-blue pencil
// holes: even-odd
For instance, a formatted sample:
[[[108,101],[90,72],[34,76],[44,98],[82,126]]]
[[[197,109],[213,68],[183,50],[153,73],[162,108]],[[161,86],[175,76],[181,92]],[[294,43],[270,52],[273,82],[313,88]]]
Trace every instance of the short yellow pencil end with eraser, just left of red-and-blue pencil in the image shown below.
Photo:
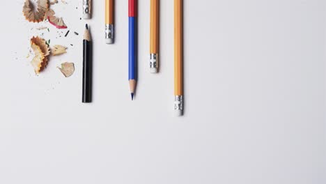
[[[114,0],[105,0],[105,42],[114,43]]]

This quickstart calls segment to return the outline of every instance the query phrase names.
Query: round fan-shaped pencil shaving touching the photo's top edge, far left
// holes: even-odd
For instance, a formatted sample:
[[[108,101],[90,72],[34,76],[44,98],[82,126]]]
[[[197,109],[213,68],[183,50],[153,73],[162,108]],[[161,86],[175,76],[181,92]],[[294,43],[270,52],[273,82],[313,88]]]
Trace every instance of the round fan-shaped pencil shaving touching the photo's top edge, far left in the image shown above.
[[[38,0],[36,4],[33,4],[31,0],[25,0],[23,14],[29,22],[42,22],[48,8],[49,1],[47,0]]]

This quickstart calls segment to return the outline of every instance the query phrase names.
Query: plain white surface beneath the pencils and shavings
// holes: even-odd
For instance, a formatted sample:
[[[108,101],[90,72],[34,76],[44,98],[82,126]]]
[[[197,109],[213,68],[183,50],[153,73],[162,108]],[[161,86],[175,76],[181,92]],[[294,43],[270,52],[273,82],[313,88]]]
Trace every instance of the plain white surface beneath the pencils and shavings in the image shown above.
[[[326,183],[326,1],[185,0],[185,116],[173,116],[173,1],[161,3],[160,73],[148,72],[149,0],[139,1],[139,82],[127,82],[127,0],[115,44],[104,1],[56,6],[70,29],[30,31],[1,4],[0,183]],[[78,6],[78,10],[76,10]],[[6,18],[5,18],[6,17]],[[81,103],[81,35],[94,41],[93,103]],[[40,24],[41,25],[41,24]],[[76,36],[73,31],[77,31]],[[26,59],[44,32],[69,47],[40,76]],[[65,31],[61,34],[64,35]],[[69,44],[74,46],[71,47]],[[75,62],[64,78],[56,68]]]

